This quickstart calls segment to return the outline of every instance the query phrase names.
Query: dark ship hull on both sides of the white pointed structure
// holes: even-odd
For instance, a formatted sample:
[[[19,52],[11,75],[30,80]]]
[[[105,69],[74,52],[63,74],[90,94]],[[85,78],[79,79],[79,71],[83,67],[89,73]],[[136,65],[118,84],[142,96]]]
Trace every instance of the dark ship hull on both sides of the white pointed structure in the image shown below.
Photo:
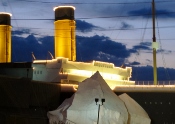
[[[60,91],[58,84],[0,76],[0,124],[48,124],[47,112],[73,95]],[[151,124],[175,124],[175,92],[126,93],[146,110]]]

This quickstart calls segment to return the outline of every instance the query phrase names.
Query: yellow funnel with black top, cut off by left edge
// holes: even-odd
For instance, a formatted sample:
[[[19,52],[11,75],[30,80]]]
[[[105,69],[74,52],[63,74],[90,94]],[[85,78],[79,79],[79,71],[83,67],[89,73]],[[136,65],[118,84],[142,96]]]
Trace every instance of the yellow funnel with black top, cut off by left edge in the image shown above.
[[[11,14],[0,12],[0,63],[11,62]]]

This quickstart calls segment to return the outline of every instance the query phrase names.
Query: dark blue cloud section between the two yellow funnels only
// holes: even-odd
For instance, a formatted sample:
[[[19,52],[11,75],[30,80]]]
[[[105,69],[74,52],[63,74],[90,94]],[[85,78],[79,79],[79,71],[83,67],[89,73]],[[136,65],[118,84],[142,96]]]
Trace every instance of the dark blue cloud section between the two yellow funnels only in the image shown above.
[[[40,39],[35,38],[34,35],[29,35],[26,38],[12,36],[12,61],[31,62],[32,52],[36,59],[50,59],[48,51],[53,54],[53,41],[53,37],[51,36]]]

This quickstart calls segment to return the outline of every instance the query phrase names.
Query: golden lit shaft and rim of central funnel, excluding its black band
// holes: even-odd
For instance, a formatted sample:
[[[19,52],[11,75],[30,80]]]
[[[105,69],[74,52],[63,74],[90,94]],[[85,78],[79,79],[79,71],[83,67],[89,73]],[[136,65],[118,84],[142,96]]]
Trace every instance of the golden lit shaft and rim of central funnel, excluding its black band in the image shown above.
[[[72,6],[56,7],[66,8]],[[72,7],[73,8],[73,7]],[[65,57],[71,61],[76,60],[75,21],[71,19],[60,19],[55,25],[55,58]]]

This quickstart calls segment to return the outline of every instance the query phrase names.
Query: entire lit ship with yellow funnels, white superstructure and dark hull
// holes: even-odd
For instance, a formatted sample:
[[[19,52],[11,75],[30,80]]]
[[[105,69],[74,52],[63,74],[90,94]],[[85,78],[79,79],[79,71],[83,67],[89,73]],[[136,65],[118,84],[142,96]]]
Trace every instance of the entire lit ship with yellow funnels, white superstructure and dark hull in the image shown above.
[[[55,57],[52,54],[51,60],[33,57],[32,63],[11,62],[11,15],[0,13],[0,98],[3,99],[0,121],[48,123],[46,113],[75,93],[81,81],[99,71],[117,95],[127,93],[143,107],[151,124],[175,123],[174,85],[156,85],[157,77],[155,85],[135,85],[130,81],[131,67],[115,67],[113,63],[95,60],[76,61],[74,10],[72,6],[54,8]],[[153,40],[156,41],[155,37]],[[156,53],[156,43],[153,44]]]

